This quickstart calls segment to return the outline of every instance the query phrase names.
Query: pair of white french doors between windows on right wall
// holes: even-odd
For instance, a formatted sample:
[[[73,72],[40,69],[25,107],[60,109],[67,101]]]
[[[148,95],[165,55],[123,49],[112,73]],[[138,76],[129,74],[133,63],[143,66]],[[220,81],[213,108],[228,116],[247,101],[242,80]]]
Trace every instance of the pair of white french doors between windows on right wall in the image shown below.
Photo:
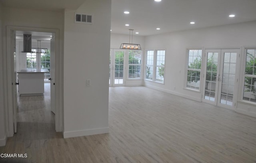
[[[202,101],[235,109],[240,49],[205,50]]]

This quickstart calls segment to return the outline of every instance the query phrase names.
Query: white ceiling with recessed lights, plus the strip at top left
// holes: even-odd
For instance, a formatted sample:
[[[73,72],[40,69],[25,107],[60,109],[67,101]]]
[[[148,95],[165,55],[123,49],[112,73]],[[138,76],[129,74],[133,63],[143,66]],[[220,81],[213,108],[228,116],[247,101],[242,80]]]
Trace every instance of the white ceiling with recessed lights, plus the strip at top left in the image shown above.
[[[76,10],[86,0],[0,0],[5,6]],[[128,10],[130,14],[124,14]],[[236,17],[229,18],[229,14]],[[256,0],[112,0],[112,33],[148,36],[256,20]],[[194,21],[195,24],[190,24]],[[130,24],[130,26],[125,26]],[[160,28],[160,30],[156,30]]]

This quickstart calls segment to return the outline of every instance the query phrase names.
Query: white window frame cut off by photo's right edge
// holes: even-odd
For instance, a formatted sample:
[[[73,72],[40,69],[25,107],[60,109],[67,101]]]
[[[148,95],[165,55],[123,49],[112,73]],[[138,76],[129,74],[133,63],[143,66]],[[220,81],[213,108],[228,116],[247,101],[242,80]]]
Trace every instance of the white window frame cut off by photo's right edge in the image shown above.
[[[249,103],[249,104],[252,104],[252,105],[256,105],[256,102],[253,102],[253,101],[248,101],[248,100],[245,100],[244,99],[244,80],[245,80],[245,77],[248,76],[248,77],[255,77],[256,78],[256,75],[246,75],[245,74],[245,70],[246,70],[246,58],[247,58],[247,50],[256,50],[256,46],[248,46],[248,47],[243,47],[243,57],[242,57],[242,64],[241,64],[241,69],[240,69],[240,73],[243,74],[240,78],[240,101],[244,102],[244,103]]]

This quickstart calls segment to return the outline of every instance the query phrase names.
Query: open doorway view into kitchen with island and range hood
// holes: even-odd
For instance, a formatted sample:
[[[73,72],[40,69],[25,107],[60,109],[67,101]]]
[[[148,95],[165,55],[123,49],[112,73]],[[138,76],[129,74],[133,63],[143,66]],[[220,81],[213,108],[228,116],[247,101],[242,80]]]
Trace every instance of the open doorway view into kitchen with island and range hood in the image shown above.
[[[18,130],[20,133],[20,130],[38,123],[47,123],[50,125],[49,129],[54,131],[55,91],[54,85],[51,86],[50,83],[55,70],[54,34],[33,31],[14,32],[16,32],[16,69],[19,82],[17,85],[18,109],[16,117],[14,117],[14,120],[16,118],[18,122],[18,129],[14,127],[14,132],[16,133]],[[31,35],[31,42],[24,42],[24,34]],[[31,50],[24,52],[24,44],[31,44]],[[34,71],[43,71],[44,73],[34,73]]]

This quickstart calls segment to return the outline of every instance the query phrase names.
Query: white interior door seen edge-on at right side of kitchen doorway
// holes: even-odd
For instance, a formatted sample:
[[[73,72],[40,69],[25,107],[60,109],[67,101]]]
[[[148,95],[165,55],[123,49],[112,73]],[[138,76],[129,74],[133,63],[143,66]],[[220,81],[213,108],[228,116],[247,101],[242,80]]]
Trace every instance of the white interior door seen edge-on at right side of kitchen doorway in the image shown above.
[[[50,41],[50,89],[51,89],[51,111],[55,114],[55,34]]]

